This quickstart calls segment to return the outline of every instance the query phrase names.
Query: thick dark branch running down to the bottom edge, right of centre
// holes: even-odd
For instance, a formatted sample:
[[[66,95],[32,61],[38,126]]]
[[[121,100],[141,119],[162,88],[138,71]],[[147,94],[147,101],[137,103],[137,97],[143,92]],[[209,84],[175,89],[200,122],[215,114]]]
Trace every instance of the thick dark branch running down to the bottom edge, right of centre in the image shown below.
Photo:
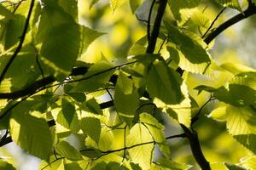
[[[190,148],[192,150],[192,154],[195,158],[195,161],[198,163],[201,169],[211,170],[210,163],[207,161],[207,159],[202,153],[201,145],[199,143],[196,131],[192,130],[191,132],[189,128],[184,126],[183,124],[180,124],[180,126],[183,128],[186,137],[189,139]]]

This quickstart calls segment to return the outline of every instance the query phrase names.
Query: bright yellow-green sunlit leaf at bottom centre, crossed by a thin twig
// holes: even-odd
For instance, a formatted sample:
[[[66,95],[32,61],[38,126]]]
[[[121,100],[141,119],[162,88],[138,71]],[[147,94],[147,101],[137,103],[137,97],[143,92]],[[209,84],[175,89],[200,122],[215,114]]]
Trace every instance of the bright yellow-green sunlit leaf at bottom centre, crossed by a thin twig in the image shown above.
[[[128,152],[131,156],[131,161],[138,163],[143,169],[148,169],[151,166],[154,157],[154,144],[143,144],[150,141],[153,141],[151,134],[142,123],[137,123],[131,127],[130,134],[127,138],[127,146],[131,147],[135,144],[138,144],[138,146],[129,149]]]

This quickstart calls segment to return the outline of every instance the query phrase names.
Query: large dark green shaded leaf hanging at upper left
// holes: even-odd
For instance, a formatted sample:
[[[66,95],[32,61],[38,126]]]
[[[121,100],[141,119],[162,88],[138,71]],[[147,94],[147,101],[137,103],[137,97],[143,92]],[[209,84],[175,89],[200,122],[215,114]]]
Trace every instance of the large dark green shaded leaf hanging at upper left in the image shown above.
[[[63,29],[65,28],[65,29]],[[68,74],[79,56],[79,26],[68,23],[55,26],[44,41],[40,53],[44,56],[44,63]]]

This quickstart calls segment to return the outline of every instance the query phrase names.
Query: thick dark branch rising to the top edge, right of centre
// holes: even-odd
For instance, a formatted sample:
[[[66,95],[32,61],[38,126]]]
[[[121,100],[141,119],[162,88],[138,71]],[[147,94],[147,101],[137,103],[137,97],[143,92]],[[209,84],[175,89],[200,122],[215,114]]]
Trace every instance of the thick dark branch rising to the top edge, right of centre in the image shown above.
[[[157,14],[156,14],[156,17],[154,20],[153,31],[152,31],[150,39],[148,41],[148,48],[146,51],[147,54],[154,53],[154,48],[155,48],[157,37],[159,35],[162,18],[165,13],[165,10],[166,10],[166,4],[167,4],[167,0],[160,1],[159,8],[157,10]]]

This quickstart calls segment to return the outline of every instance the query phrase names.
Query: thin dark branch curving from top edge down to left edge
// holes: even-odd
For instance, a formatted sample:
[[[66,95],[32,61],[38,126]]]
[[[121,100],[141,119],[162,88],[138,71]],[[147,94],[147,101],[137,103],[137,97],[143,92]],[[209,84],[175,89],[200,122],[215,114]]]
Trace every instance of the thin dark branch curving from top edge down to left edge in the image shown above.
[[[29,26],[29,20],[30,20],[31,14],[32,14],[32,8],[34,7],[34,3],[35,3],[35,0],[32,0],[31,3],[30,3],[29,11],[28,11],[28,14],[27,14],[27,17],[26,17],[26,23],[25,23],[23,32],[22,32],[21,37],[20,37],[20,43],[19,43],[18,47],[15,49],[15,53],[11,56],[7,65],[3,69],[3,72],[0,76],[0,84],[3,81],[3,77],[5,76],[6,72],[9,70],[9,66],[14,61],[15,57],[20,53],[20,50],[22,48],[23,42],[24,42],[25,37],[26,37],[26,31],[27,31],[27,28]]]

